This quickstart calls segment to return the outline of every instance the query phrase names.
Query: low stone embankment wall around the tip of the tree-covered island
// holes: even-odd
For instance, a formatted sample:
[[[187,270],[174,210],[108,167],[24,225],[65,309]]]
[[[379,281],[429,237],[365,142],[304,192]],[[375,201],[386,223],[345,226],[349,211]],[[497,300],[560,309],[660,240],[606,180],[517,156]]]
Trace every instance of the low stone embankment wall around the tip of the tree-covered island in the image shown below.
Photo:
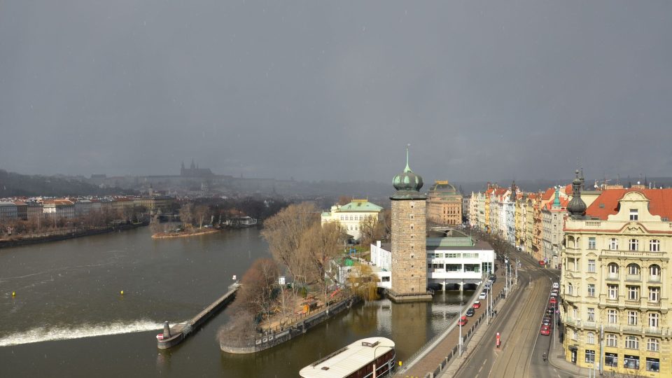
[[[349,309],[353,304],[356,304],[360,301],[360,297],[350,297],[347,300],[343,300],[330,306],[329,314],[327,314],[326,311],[320,311],[317,314],[304,318],[302,321],[291,325],[286,330],[281,330],[280,332],[269,332],[267,335],[263,335],[263,337],[257,337],[253,345],[228,346],[220,342],[220,348],[222,351],[235,354],[255,353],[272,348],[273,346],[282,344],[283,342],[288,342],[294,337],[303,335],[310,328],[313,328],[323,321],[336,316],[345,309]]]

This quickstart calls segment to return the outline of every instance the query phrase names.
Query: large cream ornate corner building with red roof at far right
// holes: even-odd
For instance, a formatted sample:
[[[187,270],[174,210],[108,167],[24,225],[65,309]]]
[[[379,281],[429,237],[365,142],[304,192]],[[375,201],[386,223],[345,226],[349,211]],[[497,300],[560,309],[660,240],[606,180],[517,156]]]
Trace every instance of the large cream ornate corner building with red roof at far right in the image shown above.
[[[604,190],[587,207],[580,184],[561,251],[566,360],[672,377],[672,189]]]

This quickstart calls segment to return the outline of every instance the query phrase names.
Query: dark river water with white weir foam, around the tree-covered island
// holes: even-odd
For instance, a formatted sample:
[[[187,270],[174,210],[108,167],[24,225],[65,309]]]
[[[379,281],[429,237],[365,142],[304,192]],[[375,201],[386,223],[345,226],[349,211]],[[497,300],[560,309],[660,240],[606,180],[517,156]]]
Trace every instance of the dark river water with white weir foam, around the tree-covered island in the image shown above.
[[[183,344],[156,348],[163,321],[191,318],[260,257],[269,253],[254,228],[162,240],[139,228],[0,249],[0,377],[297,377],[373,335],[393,339],[405,360],[459,311],[458,292],[377,300],[273,349],[232,355],[216,340],[225,309]]]

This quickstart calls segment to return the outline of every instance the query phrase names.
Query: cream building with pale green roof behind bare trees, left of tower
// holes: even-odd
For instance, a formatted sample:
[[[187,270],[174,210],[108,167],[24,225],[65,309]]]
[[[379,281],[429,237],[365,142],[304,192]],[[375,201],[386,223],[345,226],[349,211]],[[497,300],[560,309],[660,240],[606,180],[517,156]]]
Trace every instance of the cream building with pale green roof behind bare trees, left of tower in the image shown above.
[[[361,237],[360,225],[366,219],[380,221],[382,207],[372,204],[368,200],[352,200],[349,204],[343,206],[335,204],[330,211],[324,211],[321,216],[322,224],[327,222],[338,222],[344,230],[353,239],[358,240]]]

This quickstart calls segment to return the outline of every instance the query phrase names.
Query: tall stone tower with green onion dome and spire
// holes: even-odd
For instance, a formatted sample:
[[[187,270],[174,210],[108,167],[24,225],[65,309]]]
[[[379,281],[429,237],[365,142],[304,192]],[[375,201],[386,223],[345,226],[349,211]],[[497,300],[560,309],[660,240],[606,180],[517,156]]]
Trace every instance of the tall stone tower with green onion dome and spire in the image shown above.
[[[396,302],[431,300],[427,292],[427,196],[422,177],[408,166],[393,179],[392,266],[390,297]]]

